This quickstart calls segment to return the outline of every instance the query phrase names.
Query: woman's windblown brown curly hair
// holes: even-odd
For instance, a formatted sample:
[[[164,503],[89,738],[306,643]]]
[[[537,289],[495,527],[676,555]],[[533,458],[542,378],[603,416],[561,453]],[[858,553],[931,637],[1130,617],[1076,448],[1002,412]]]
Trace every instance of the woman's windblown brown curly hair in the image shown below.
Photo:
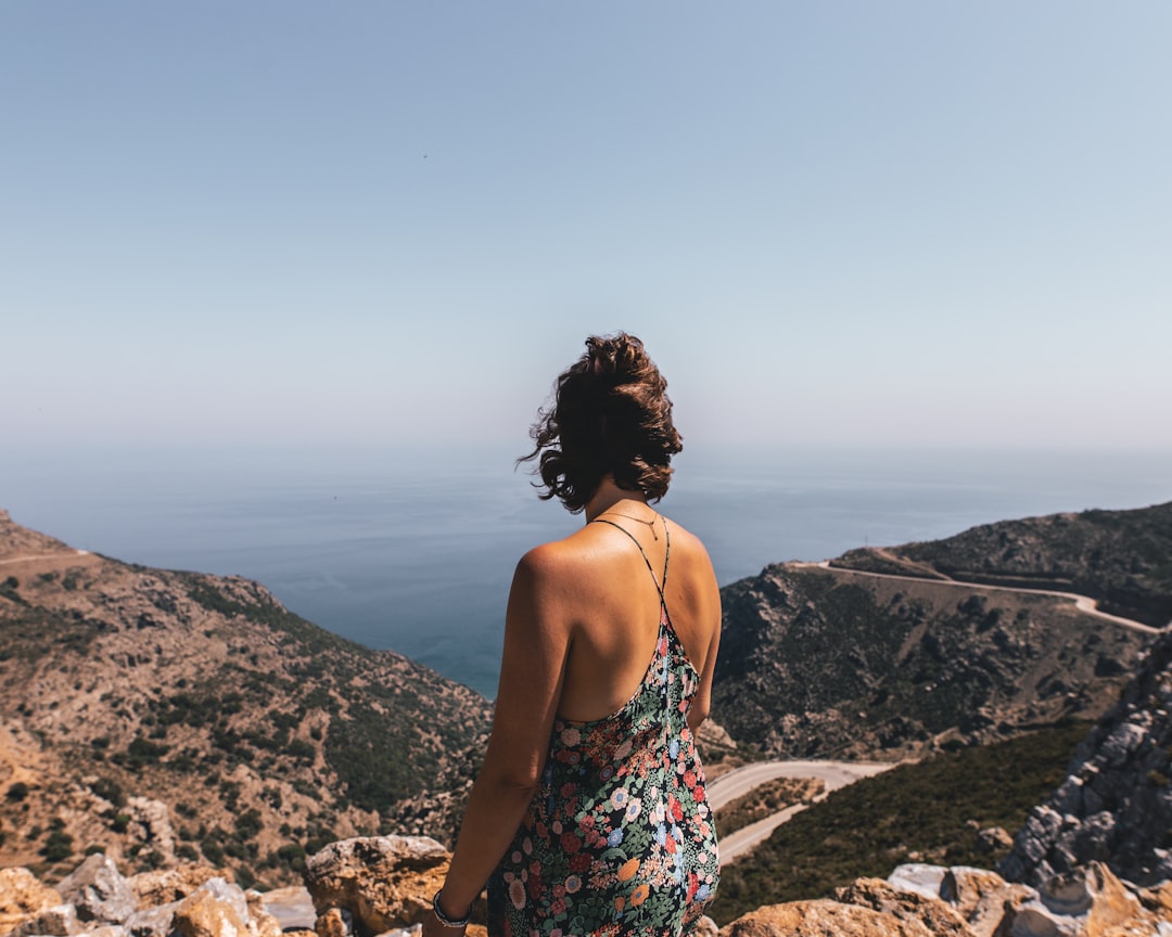
[[[598,491],[604,476],[626,491],[657,501],[672,479],[672,456],[683,449],[672,423],[667,381],[634,335],[586,340],[586,354],[558,377],[553,403],[529,431],[540,498],[560,498],[573,514]]]

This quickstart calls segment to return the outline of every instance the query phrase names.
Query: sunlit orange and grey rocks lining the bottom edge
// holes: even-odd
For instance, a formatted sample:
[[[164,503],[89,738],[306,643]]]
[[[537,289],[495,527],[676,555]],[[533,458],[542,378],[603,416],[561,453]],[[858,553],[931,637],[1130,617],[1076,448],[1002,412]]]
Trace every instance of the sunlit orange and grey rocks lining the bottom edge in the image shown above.
[[[311,857],[306,885],[313,930],[304,937],[375,937],[416,930],[448,868],[449,853],[425,836],[332,843]],[[23,868],[0,870],[0,935],[7,937],[278,937],[291,889],[263,895],[223,870],[185,866],[124,878],[104,855],[89,856],[49,888]],[[295,896],[293,896],[295,897]],[[472,937],[484,935],[483,903]],[[309,921],[302,922],[308,925]],[[761,908],[711,937],[1157,937],[1172,935],[1172,882],[1136,888],[1091,862],[1040,887],[993,871],[900,866],[885,881],[860,878],[832,898]]]

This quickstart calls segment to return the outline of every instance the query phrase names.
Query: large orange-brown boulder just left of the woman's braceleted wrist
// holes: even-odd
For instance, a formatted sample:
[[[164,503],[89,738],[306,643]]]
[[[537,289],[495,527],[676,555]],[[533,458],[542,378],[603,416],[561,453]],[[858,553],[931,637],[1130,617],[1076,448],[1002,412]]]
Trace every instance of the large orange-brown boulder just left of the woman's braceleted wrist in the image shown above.
[[[443,885],[449,854],[428,836],[364,836],[331,843],[306,861],[305,883],[318,911],[316,931],[335,933],[339,921],[321,917],[349,911],[354,933],[377,933],[421,923],[431,896]],[[483,917],[477,917],[483,922]],[[328,931],[328,935],[327,935]]]

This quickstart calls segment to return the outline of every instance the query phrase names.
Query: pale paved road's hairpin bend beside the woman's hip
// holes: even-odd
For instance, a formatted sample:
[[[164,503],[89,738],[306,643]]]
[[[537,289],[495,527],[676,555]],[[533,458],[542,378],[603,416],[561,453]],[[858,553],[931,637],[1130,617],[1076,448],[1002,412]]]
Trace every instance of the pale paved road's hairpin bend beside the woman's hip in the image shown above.
[[[861,778],[870,778],[893,767],[895,766],[879,761],[758,761],[722,774],[709,784],[708,802],[718,811],[730,801],[775,778],[817,778],[826,786],[825,791],[817,798],[817,800],[822,800],[831,791],[837,791],[839,787],[845,787]],[[728,834],[721,840],[721,862],[732,862],[737,856],[748,853],[757,843],[769,839],[770,833],[793,814],[804,811],[805,807],[804,803],[796,803],[781,813],[775,813],[772,816],[766,816],[764,820],[758,820],[756,823],[750,823]]]

